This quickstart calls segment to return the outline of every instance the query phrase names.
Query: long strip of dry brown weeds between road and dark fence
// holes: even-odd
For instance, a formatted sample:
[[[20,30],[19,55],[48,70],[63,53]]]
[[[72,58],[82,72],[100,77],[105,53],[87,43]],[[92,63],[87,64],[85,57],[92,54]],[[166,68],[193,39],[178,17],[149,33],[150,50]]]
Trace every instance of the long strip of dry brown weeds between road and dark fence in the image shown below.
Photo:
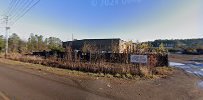
[[[139,76],[151,79],[154,78],[154,76],[166,76],[172,72],[171,68],[166,67],[157,67],[152,71],[149,67],[136,67],[132,64],[70,62],[55,58],[42,59],[37,56],[22,56],[20,54],[11,54],[8,58],[15,61],[38,64],[38,67],[35,65],[31,68],[37,68],[40,70],[45,68],[46,71],[54,71],[54,73],[58,73],[60,75],[70,73],[87,73],[88,75],[96,77],[134,79]]]

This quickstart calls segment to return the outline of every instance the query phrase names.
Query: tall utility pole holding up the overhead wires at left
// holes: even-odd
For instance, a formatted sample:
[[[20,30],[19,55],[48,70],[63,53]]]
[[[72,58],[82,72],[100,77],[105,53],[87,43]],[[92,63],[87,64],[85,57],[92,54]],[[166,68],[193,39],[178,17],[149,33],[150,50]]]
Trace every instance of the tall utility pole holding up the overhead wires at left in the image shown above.
[[[5,58],[7,58],[7,55],[8,55],[8,31],[10,29],[10,27],[8,27],[8,16],[5,17],[5,23],[6,23],[6,26],[5,26],[5,31],[6,31],[6,45],[5,45]]]

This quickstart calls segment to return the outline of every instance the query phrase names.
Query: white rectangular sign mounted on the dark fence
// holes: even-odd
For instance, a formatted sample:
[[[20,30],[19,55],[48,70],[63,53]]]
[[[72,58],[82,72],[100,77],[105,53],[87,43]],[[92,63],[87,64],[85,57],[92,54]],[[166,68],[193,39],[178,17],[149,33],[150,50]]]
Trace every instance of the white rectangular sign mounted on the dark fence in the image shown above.
[[[147,55],[131,55],[131,63],[147,63]]]

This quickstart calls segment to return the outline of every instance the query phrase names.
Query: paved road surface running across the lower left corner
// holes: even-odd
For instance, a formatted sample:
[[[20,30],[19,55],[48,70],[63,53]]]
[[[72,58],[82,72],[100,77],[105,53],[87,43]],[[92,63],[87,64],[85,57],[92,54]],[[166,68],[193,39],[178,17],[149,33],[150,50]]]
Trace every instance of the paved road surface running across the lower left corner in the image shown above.
[[[44,74],[44,75],[43,75]],[[0,100],[98,100],[107,99],[94,91],[64,81],[56,75],[19,70],[0,63]]]

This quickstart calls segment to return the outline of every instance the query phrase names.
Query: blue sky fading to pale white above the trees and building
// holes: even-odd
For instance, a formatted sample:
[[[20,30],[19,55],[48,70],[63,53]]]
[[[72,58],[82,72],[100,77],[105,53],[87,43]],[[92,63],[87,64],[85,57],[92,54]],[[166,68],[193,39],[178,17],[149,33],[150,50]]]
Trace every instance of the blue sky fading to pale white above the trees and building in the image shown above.
[[[10,1],[0,0],[0,15]],[[203,0],[41,0],[11,26],[11,33],[62,41],[72,40],[72,34],[126,41],[203,38]]]

